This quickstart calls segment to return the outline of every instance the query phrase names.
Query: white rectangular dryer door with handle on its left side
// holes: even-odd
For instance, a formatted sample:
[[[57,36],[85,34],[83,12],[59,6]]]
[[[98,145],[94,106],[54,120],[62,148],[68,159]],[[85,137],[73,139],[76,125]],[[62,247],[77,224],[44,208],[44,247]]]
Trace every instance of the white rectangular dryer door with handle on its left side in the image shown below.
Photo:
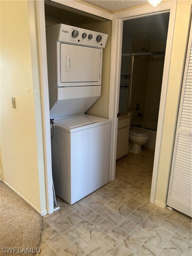
[[[60,82],[62,86],[82,86],[100,81],[101,49],[60,43]]]

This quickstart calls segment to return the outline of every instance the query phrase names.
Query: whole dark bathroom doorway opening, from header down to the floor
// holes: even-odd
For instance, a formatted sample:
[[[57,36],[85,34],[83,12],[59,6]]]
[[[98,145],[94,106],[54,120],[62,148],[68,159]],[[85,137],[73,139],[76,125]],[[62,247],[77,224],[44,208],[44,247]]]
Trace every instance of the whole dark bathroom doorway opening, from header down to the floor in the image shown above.
[[[132,186],[144,192],[151,190],[168,26],[169,13],[123,21],[116,177],[119,164],[129,163]]]

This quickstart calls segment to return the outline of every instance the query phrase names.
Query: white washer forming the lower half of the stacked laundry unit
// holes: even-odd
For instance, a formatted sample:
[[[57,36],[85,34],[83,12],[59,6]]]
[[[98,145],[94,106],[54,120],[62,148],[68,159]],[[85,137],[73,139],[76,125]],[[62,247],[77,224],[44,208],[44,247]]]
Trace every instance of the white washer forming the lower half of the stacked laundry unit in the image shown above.
[[[55,193],[73,204],[109,182],[111,120],[80,114],[54,122]]]

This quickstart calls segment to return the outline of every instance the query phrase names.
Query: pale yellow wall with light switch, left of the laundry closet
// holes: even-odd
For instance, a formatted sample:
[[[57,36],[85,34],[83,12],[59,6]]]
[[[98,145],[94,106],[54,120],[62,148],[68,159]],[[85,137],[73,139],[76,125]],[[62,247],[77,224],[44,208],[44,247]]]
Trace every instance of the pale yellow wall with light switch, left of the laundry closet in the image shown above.
[[[42,175],[43,149],[42,144],[39,147],[42,141],[37,142],[37,137],[39,139],[41,137],[36,127],[40,114],[38,117],[35,111],[39,106],[40,97],[37,96],[38,72],[35,74],[36,77],[33,73],[33,64],[36,68],[38,65],[31,59],[32,35],[29,29],[28,3],[1,1],[0,6],[1,166],[3,181],[41,212],[46,209],[44,175]],[[33,4],[32,1],[31,3]],[[30,19],[32,18],[30,16]],[[36,85],[33,84],[33,79],[36,79]],[[15,97],[16,109],[12,108],[11,97]],[[40,109],[38,111],[40,113]],[[38,155],[41,156],[41,163]],[[39,183],[41,183],[41,192]]]

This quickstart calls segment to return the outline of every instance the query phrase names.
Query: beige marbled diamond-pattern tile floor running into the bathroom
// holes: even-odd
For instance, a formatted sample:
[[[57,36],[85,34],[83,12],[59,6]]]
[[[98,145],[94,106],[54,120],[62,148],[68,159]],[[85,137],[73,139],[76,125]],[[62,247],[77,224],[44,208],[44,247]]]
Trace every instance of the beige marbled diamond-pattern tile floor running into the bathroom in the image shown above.
[[[43,218],[40,256],[191,255],[191,218],[149,202],[154,150],[116,163],[116,178]]]

